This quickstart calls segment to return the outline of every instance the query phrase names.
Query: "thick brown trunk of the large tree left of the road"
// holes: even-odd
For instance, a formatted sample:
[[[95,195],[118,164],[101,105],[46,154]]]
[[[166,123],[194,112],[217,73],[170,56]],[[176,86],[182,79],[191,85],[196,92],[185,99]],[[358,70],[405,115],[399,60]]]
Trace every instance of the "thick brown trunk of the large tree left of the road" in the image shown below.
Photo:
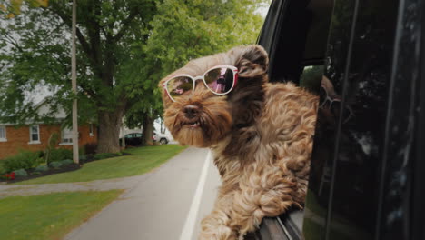
[[[100,111],[98,113],[99,133],[97,153],[117,153],[120,149],[119,135],[123,111]]]

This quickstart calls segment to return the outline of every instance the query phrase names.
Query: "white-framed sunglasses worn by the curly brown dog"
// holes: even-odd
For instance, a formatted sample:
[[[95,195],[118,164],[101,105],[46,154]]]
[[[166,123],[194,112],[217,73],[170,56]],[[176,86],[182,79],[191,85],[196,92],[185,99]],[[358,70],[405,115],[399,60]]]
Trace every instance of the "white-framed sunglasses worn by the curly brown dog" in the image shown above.
[[[238,68],[232,65],[216,65],[203,75],[175,75],[163,83],[168,96],[176,102],[180,97],[191,95],[196,81],[203,80],[203,84],[214,95],[227,95],[238,82]]]

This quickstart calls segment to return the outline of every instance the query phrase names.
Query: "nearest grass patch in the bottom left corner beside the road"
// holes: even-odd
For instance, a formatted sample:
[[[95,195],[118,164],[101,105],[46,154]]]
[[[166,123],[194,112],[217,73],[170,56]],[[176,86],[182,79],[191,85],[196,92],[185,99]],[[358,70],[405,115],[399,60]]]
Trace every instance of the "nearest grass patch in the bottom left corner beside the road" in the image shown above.
[[[70,192],[0,199],[1,239],[62,239],[122,192]]]

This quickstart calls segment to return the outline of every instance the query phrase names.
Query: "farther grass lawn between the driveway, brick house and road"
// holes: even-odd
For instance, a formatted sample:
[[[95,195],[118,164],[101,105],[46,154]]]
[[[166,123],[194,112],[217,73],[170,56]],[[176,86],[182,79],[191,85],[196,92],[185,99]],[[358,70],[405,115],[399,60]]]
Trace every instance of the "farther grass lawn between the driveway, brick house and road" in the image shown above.
[[[124,155],[84,164],[83,168],[57,175],[47,175],[16,183],[15,185],[54,184],[88,182],[131,175],[141,175],[162,165],[173,155],[177,155],[185,146],[156,145],[125,150],[132,155]]]

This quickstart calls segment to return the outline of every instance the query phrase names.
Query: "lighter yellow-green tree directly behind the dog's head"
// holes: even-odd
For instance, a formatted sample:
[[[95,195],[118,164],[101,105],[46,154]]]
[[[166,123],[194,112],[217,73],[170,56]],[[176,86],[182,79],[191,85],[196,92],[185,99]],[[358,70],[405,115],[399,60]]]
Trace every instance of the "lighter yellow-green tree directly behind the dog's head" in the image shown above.
[[[198,1],[165,0],[153,17],[153,30],[140,57],[143,82],[135,89],[152,91],[152,97],[136,97],[126,115],[127,125],[147,126],[146,141],[152,139],[153,119],[163,111],[156,83],[193,58],[227,51],[234,45],[253,44],[262,26],[262,16],[255,13],[267,1]],[[154,85],[152,85],[154,83]],[[153,89],[149,89],[150,87]],[[142,93],[137,91],[137,93]],[[134,93],[134,95],[137,95]],[[149,124],[143,121],[148,121]],[[138,124],[137,124],[138,123]]]

